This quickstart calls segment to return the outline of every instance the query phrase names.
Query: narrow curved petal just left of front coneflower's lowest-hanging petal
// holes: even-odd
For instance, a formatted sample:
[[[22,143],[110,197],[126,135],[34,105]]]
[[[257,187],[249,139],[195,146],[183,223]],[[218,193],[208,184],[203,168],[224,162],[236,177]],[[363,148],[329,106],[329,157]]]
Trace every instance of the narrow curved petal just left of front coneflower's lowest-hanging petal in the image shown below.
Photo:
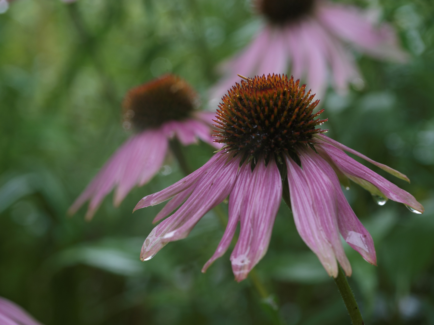
[[[250,186],[250,178],[252,177],[252,170],[249,163],[243,164],[238,172],[238,178],[233,186],[232,191],[229,195],[229,218],[224,231],[223,237],[217,246],[214,255],[205,263],[202,268],[202,272],[206,272],[208,267],[214,263],[216,259],[223,256],[226,253],[229,245],[232,241],[235,230],[237,230],[237,224],[240,220],[241,205],[243,204],[246,190]]]

